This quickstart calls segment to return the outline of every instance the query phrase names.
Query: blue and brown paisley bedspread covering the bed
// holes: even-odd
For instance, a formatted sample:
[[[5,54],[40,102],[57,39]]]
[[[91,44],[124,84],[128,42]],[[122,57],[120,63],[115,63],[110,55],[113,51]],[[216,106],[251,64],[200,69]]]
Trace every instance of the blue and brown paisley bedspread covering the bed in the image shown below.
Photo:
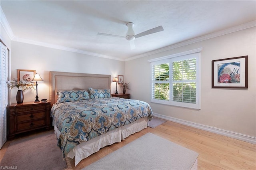
[[[146,102],[109,97],[57,103],[52,107],[51,116],[61,132],[58,146],[65,158],[81,142],[142,117],[151,120],[153,113]]]

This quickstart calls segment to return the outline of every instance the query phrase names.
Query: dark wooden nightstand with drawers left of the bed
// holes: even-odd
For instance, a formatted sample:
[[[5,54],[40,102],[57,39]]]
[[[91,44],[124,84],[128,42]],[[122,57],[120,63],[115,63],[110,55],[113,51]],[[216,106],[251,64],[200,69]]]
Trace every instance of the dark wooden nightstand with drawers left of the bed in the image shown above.
[[[7,107],[7,135],[12,140],[15,134],[28,132],[38,128],[51,127],[51,102],[25,102]]]

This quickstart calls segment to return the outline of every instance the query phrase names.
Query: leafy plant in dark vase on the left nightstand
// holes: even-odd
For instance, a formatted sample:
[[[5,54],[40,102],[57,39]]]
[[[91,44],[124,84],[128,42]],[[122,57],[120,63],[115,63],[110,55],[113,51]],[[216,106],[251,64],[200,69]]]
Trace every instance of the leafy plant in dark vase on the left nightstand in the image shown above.
[[[23,91],[26,91],[28,89],[32,90],[34,88],[34,85],[32,83],[30,83],[29,81],[24,81],[24,80],[20,80],[18,81],[17,78],[13,78],[12,82],[10,82],[9,84],[9,88],[12,90],[13,88],[17,88],[18,92],[16,95],[16,101],[17,103],[23,103],[24,100],[24,94]]]

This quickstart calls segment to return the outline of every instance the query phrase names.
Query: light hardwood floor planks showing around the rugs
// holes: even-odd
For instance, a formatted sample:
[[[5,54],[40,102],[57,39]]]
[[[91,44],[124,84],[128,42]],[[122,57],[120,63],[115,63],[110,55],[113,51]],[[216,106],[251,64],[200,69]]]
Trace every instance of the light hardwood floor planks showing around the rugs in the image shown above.
[[[76,168],[74,162],[68,161],[68,169],[79,170],[88,164],[99,160],[122,146],[136,140],[146,133],[153,133],[176,144],[198,152],[199,156],[192,170],[256,170],[256,145],[234,138],[229,138],[197,128],[166,121],[156,128],[146,128],[130,135],[120,143],[115,143],[100,149],[88,158],[82,160]],[[8,142],[1,151],[1,160]],[[2,152],[3,151],[3,152]]]

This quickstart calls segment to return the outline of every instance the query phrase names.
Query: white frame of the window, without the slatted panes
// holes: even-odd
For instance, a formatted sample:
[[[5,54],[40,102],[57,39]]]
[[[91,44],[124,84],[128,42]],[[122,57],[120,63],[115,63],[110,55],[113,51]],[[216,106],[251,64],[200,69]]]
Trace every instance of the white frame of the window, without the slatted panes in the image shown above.
[[[159,104],[165,104],[165,105],[173,105],[178,107],[188,107],[193,109],[201,109],[201,51],[202,48],[193,49],[190,51],[185,51],[182,53],[177,53],[173,55],[168,55],[165,57],[160,57],[157,59],[151,59],[148,60],[150,62],[150,77],[151,77],[151,95],[150,95],[150,102],[152,103],[159,103]],[[172,62],[173,61],[181,61],[185,59],[191,59],[196,58],[196,103],[184,103],[184,102],[177,102],[172,101]],[[170,74],[169,74],[169,81],[166,83],[169,83],[170,89],[169,89],[169,101],[168,100],[160,100],[160,99],[153,99],[153,76],[152,76],[152,67],[153,65],[159,65],[163,63],[169,63],[170,67]]]

